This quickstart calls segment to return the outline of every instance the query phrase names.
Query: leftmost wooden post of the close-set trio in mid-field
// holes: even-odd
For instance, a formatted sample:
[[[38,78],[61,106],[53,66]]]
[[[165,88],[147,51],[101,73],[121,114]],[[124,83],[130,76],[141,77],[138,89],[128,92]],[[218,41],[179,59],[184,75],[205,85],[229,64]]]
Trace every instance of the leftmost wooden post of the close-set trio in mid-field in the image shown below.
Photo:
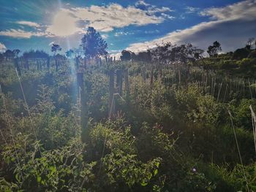
[[[108,99],[108,118],[112,119],[115,113],[115,72],[110,70],[109,72],[109,99]]]

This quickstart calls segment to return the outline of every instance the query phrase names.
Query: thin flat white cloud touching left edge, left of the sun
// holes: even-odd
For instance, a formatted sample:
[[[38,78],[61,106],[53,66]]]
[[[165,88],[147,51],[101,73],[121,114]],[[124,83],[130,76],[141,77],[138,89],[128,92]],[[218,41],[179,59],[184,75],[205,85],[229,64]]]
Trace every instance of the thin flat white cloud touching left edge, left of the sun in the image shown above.
[[[40,37],[40,36],[48,36],[48,34],[45,34],[44,32],[39,31],[24,31],[22,29],[7,29],[6,31],[0,31],[1,36],[7,36],[7,37],[16,37],[16,38],[26,38],[29,39],[30,37]]]

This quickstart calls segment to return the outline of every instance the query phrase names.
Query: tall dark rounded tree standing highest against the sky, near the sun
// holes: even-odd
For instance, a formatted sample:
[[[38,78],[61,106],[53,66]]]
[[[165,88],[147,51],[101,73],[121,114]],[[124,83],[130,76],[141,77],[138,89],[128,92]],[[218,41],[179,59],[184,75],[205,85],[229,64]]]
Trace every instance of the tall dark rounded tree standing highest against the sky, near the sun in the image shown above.
[[[93,27],[89,27],[86,34],[81,39],[81,45],[83,48],[83,54],[86,59],[95,59],[101,55],[108,55],[106,49],[108,48],[107,42],[102,39],[99,32]]]

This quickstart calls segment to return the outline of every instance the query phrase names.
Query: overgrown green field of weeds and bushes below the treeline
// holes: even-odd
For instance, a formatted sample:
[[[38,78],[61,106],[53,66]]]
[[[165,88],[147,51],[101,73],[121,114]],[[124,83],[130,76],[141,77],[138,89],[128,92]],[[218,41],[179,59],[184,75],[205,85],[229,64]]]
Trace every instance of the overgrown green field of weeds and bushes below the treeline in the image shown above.
[[[24,70],[26,102],[3,65],[0,191],[256,191],[252,79],[166,67],[152,81],[151,64],[118,61],[79,88],[70,64]],[[110,72],[127,68],[110,102]]]

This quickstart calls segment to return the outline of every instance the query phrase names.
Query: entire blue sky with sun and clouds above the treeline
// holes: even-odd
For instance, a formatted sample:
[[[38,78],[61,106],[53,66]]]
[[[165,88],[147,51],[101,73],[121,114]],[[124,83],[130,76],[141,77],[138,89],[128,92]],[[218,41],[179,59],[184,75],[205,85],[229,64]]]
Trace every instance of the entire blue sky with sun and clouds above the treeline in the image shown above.
[[[108,53],[147,50],[165,42],[223,52],[256,37],[256,0],[66,1],[0,0],[0,52],[62,50],[80,45],[89,26],[108,43]]]

